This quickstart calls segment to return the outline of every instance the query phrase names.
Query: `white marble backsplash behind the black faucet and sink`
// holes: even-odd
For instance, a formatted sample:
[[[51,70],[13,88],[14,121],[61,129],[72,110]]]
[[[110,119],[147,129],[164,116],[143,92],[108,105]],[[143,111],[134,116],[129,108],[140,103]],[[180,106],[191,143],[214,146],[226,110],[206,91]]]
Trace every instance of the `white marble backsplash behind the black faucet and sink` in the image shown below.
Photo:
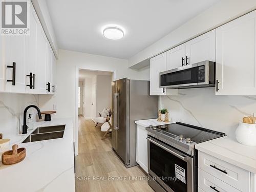
[[[20,117],[24,109],[30,104],[38,106],[38,100],[38,95],[0,94],[0,133],[4,134],[4,138],[19,133]],[[37,112],[29,109],[28,113],[36,114]]]

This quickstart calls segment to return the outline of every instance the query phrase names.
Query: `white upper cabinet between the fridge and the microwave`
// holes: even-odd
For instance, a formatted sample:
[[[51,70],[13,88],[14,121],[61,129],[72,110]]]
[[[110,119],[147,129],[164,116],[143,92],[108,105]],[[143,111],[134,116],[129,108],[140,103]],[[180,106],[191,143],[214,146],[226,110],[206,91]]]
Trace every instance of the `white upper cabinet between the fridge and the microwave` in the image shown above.
[[[150,59],[150,95],[177,95],[177,89],[160,88],[160,72],[166,71],[166,52]]]

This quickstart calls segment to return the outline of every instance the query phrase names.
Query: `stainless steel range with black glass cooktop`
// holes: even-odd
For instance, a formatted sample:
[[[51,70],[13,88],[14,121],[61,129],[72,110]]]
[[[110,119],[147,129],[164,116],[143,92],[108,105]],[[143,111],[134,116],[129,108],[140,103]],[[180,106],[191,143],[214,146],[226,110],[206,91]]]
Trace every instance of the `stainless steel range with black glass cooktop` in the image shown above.
[[[224,133],[181,122],[146,127],[148,184],[155,191],[197,191],[195,145],[225,136]]]

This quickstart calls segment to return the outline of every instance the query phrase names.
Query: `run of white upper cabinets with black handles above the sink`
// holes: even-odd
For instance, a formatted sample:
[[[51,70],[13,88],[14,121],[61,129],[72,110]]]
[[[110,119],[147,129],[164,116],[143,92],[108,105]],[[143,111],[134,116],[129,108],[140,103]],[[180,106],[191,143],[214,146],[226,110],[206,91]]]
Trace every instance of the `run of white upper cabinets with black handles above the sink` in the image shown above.
[[[55,56],[30,8],[30,35],[0,36],[0,92],[54,94],[46,83],[52,84]]]

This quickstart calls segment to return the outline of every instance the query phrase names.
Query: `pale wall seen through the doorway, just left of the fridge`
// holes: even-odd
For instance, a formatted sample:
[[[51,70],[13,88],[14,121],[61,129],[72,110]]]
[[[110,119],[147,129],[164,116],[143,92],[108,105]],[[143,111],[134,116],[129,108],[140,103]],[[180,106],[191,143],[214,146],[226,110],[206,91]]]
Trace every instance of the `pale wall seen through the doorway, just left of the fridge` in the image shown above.
[[[111,82],[110,75],[97,75],[96,82],[96,117],[103,108],[111,109]]]

